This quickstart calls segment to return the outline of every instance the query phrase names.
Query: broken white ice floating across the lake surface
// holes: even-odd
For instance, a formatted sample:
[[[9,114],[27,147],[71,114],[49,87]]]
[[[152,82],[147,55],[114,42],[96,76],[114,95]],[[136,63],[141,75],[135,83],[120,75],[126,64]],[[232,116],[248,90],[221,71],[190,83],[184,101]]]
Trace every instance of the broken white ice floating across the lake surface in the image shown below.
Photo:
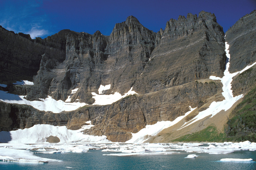
[[[42,127],[43,128],[43,127]],[[1,134],[0,134],[1,136]],[[214,145],[213,145],[214,144]],[[109,156],[128,156],[128,155],[157,155],[157,154],[179,154],[177,151],[208,153],[208,154],[227,154],[235,150],[252,150],[256,149],[256,143],[244,141],[239,143],[223,142],[213,143],[205,146],[201,143],[0,143],[0,159],[26,159],[30,163],[38,161],[60,161],[55,159],[40,158],[33,154],[39,153],[70,153],[70,152],[88,152],[90,148],[105,149],[102,151],[119,152],[104,154]],[[33,152],[31,152],[33,151]],[[120,153],[121,152],[121,153]],[[253,152],[253,151],[251,151]],[[195,158],[196,154],[190,154],[186,158]],[[222,159],[221,161],[252,161],[251,159]]]

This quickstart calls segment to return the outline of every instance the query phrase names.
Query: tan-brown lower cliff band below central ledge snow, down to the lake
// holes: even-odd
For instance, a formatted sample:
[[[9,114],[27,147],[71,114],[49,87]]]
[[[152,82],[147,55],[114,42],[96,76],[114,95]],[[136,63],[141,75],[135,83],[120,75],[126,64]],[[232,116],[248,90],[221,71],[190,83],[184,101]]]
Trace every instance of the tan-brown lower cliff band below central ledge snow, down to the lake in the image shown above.
[[[88,107],[95,126],[85,133],[106,135],[108,140],[125,142],[131,133],[158,121],[173,121],[189,111],[189,106],[200,107],[207,99],[221,92],[221,83],[191,82],[146,94],[123,98],[112,105]]]

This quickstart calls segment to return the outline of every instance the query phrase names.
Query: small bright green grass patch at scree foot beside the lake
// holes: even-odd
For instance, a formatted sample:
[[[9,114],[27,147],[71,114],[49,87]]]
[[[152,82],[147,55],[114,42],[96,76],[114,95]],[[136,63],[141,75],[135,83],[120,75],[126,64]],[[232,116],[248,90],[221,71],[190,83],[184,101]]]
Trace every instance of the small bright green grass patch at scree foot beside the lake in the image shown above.
[[[226,135],[219,133],[215,126],[208,126],[199,132],[181,136],[172,142],[223,142],[225,137]]]

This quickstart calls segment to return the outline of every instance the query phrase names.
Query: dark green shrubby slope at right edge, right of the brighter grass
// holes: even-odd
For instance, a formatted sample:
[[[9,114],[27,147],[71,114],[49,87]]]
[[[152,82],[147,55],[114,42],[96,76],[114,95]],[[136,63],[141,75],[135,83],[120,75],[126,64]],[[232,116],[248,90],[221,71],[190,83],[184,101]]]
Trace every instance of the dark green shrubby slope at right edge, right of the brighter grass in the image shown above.
[[[256,87],[232,111],[225,130],[231,141],[256,142]]]

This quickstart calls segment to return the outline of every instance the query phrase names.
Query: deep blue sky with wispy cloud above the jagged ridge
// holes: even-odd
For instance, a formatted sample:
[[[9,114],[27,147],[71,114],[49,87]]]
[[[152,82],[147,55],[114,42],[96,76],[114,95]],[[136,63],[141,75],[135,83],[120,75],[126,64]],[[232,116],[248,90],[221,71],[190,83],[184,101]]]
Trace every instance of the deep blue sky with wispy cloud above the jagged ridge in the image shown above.
[[[166,22],[200,11],[214,13],[226,32],[242,16],[256,10],[256,0],[0,0],[0,25],[32,38],[63,29],[110,35],[130,15],[157,32]]]

